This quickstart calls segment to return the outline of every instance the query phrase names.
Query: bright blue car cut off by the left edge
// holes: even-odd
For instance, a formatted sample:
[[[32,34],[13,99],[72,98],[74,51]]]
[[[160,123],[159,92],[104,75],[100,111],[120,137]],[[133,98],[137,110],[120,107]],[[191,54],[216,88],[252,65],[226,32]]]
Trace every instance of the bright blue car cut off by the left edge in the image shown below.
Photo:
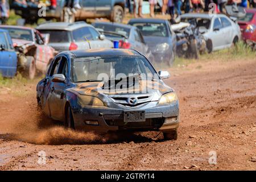
[[[9,32],[0,29],[0,76],[14,77],[17,62],[17,55]]]

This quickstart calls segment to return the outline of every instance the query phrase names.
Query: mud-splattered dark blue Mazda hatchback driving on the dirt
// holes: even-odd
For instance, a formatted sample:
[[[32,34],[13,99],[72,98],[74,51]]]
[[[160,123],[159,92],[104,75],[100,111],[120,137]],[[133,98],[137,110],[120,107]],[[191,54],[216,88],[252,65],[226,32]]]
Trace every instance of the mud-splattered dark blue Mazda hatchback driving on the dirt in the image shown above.
[[[106,83],[90,80],[90,75],[95,72],[92,68],[84,71],[90,73],[88,76],[82,77],[81,81],[80,76],[77,76],[80,73],[79,69],[88,67],[85,66],[86,64],[92,64],[94,60],[90,60],[91,57],[101,57],[97,60],[98,64],[94,64],[94,66],[114,64],[113,61],[119,61],[119,59],[122,61],[141,60],[142,62],[139,64],[147,64],[147,68],[159,78],[155,78],[158,81],[154,81],[157,86],[142,86],[146,80],[139,79],[136,83],[140,85],[139,88],[147,88],[146,92],[127,93],[124,88],[111,90],[105,85]],[[108,59],[104,57],[108,57]],[[77,65],[84,59],[89,59],[85,61],[85,65]],[[118,69],[116,67],[118,64],[119,62],[115,63],[115,71],[128,69],[127,67]],[[56,65],[59,68],[56,68]],[[106,69],[105,67],[104,65],[104,69]],[[163,76],[163,72],[160,72],[159,75],[166,77],[166,75]],[[176,131],[179,126],[179,101],[174,90],[165,85],[159,75],[146,57],[130,49],[61,52],[52,61],[46,77],[38,83],[36,96],[39,107],[44,113],[75,129],[159,130],[168,134]],[[115,81],[114,84],[117,86],[118,83]],[[172,101],[162,104],[162,99],[171,95]],[[127,114],[130,114],[131,118]],[[139,118],[137,118],[138,115]]]

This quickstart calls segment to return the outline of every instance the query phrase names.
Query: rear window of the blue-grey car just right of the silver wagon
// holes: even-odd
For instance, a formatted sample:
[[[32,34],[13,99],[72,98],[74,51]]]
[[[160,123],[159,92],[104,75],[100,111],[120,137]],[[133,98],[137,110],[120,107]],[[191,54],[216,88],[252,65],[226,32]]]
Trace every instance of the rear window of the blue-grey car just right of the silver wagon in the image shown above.
[[[102,23],[95,23],[94,27],[97,28],[98,31],[104,32],[104,35],[109,38],[122,38],[123,36],[128,38],[130,36],[130,28]],[[114,32],[116,34],[110,34],[108,32]]]

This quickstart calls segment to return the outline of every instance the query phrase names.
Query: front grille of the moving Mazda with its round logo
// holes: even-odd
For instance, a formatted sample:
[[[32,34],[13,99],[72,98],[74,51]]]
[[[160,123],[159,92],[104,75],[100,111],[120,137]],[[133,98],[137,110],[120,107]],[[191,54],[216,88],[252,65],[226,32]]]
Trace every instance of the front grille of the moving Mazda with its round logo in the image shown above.
[[[123,96],[110,96],[111,100],[115,102],[116,104],[126,106],[126,107],[136,107],[143,104],[146,104],[147,102],[150,102],[152,99],[152,96],[149,94],[139,94],[136,95],[123,95]],[[129,99],[137,99],[137,102],[135,104],[131,104],[129,102]]]

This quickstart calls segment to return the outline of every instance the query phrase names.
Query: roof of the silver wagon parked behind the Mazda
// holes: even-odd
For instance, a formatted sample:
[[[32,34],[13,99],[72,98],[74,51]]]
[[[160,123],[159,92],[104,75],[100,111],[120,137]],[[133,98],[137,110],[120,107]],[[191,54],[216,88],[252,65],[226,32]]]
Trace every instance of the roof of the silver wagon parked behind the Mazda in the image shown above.
[[[77,28],[81,27],[92,27],[90,24],[85,22],[74,22],[74,23],[67,23],[67,22],[50,22],[50,23],[42,23],[39,24],[36,29],[38,30],[67,30],[72,31],[76,30]]]

